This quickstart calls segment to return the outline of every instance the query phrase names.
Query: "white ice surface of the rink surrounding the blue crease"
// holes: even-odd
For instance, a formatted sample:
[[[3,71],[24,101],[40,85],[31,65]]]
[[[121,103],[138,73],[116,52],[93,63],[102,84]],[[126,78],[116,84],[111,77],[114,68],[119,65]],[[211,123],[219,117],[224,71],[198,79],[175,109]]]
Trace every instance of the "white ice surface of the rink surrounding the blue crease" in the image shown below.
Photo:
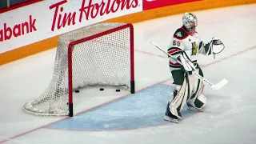
[[[222,78],[229,83],[221,90],[206,86],[206,110],[178,124],[170,123],[138,130],[69,131],[43,126],[61,118],[43,118],[22,111],[25,102],[38,98],[52,78],[56,49],[47,50],[0,66],[0,143],[255,143],[256,122],[256,5],[233,6],[194,12],[202,40],[222,38],[226,49],[213,56],[200,56],[198,63],[210,82]],[[134,24],[136,90],[158,82],[171,84],[166,55],[150,44],[165,49],[181,26],[182,14]],[[75,113],[128,94],[75,98]],[[82,99],[82,103],[79,99]],[[74,103],[75,103],[74,102]],[[162,112],[164,113],[164,111]],[[254,115],[255,114],[255,115]],[[145,122],[146,119],[145,119]]]

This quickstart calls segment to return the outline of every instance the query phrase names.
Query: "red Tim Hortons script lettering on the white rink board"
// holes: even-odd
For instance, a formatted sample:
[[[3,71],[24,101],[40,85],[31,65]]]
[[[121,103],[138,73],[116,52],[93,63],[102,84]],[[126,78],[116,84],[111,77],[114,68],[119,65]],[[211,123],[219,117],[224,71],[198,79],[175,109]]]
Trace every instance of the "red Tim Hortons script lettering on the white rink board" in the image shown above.
[[[55,3],[50,6],[54,10],[54,18],[51,26],[51,30],[54,31],[55,27],[61,29],[62,27],[75,25],[76,23],[76,12],[63,12],[64,8],[61,6],[66,3],[67,0]],[[103,16],[110,13],[115,13],[118,10],[129,10],[138,6],[138,0],[102,0],[102,2],[94,2],[89,0],[86,5],[86,0],[82,0],[81,8],[79,9],[79,22],[82,19],[89,20],[98,16]],[[57,24],[56,24],[57,22]]]

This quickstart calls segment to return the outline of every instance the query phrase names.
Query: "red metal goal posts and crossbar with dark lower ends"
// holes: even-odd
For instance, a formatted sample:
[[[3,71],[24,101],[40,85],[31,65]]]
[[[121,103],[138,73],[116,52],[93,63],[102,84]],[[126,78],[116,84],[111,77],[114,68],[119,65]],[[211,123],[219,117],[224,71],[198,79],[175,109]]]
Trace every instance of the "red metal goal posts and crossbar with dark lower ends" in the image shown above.
[[[69,116],[74,116],[74,107],[73,107],[73,82],[72,82],[72,51],[74,49],[75,45],[78,45],[79,43],[90,41],[91,39],[98,38],[102,35],[111,34],[114,32],[117,32],[118,30],[123,30],[129,28],[130,29],[130,93],[135,93],[135,83],[134,83],[134,26],[131,23],[127,23],[123,26],[118,26],[110,30],[103,31],[98,34],[91,35],[90,37],[81,38],[79,40],[76,40],[74,42],[70,42],[68,45],[68,96],[69,96]]]

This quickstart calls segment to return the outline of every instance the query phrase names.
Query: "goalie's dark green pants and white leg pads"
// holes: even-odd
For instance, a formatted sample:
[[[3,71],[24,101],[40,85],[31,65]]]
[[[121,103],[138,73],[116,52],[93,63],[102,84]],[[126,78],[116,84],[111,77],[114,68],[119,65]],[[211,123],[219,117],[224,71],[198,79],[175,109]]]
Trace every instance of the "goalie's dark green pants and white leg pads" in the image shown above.
[[[202,70],[197,66],[198,74],[203,77]],[[206,98],[202,94],[204,85],[202,81],[193,74],[187,74],[183,70],[172,70],[175,90],[170,94],[170,102],[166,108],[166,115],[172,118],[182,118],[181,110],[187,106],[196,110],[202,110],[206,105]]]

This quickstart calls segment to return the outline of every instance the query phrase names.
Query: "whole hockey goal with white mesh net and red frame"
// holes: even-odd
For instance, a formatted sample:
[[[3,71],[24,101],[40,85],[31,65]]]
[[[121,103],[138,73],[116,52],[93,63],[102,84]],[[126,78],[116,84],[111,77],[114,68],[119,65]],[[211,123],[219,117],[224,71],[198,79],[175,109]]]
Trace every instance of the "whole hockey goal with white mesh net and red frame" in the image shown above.
[[[23,110],[73,116],[73,91],[87,86],[125,86],[134,94],[131,24],[98,23],[60,35],[50,85]]]

